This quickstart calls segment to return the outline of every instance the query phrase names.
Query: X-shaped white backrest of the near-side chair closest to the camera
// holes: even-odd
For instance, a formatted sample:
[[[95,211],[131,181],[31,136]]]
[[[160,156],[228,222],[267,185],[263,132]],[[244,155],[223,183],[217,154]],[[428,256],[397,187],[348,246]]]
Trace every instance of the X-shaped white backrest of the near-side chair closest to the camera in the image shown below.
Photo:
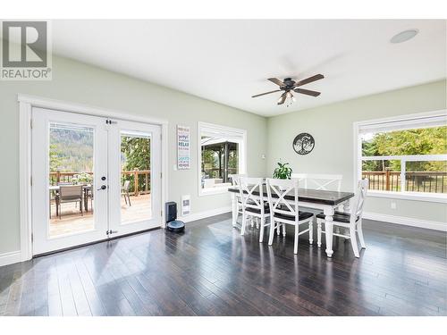
[[[299,221],[298,206],[298,184],[299,180],[276,180],[266,179],[268,204],[270,205],[270,214],[286,214],[295,216],[295,221]],[[286,200],[285,196],[293,196],[293,202]]]

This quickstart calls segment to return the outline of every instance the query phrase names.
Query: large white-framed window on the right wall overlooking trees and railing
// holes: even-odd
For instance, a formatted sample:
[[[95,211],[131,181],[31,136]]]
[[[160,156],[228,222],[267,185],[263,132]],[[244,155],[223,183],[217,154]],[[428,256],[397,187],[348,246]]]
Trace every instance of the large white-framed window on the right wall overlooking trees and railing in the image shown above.
[[[447,115],[358,122],[357,178],[378,197],[447,200]]]

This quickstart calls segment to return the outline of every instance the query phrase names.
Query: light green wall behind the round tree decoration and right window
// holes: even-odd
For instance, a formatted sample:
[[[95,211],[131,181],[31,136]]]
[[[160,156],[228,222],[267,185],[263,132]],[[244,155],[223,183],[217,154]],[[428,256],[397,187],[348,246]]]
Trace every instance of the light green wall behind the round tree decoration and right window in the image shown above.
[[[291,163],[294,172],[340,173],[342,188],[351,190],[354,121],[445,108],[446,82],[442,80],[269,118],[266,172],[271,174],[275,163],[282,159]],[[308,155],[297,155],[291,147],[300,132],[315,138],[316,146]],[[395,210],[391,209],[391,201],[396,202]],[[365,206],[367,212],[447,222],[445,204],[369,197]]]

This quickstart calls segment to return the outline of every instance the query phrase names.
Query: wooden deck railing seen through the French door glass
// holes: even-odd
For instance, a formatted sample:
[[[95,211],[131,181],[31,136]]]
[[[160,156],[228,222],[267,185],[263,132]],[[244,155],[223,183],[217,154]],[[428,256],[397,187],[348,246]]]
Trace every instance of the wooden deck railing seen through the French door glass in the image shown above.
[[[93,175],[93,172],[84,172]],[[50,185],[57,185],[59,182],[70,183],[73,176],[80,174],[80,172],[50,172]],[[121,172],[122,182],[124,180],[131,180],[129,192],[133,196],[139,194],[150,193],[150,171],[149,170],[131,170]]]

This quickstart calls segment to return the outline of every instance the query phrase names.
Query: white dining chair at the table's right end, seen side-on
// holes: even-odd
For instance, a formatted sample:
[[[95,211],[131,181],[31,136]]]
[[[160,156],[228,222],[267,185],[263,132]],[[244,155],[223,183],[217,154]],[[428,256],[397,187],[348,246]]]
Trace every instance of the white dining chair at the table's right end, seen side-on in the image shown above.
[[[362,230],[363,205],[365,204],[365,197],[367,195],[367,184],[368,180],[358,181],[357,192],[351,203],[353,208],[350,210],[350,213],[336,211],[333,214],[332,222],[327,222],[325,220],[325,214],[316,214],[316,244],[318,247],[321,247],[322,233],[325,233],[326,247],[329,244],[330,249],[332,249],[332,237],[338,236],[345,239],[350,239],[350,244],[352,246],[352,250],[354,251],[354,255],[359,257],[360,254],[358,252],[356,237],[357,232],[360,246],[362,248],[367,248]],[[325,225],[325,230],[322,229],[322,224]],[[348,233],[343,234],[341,232],[333,232],[333,226],[346,228]]]

